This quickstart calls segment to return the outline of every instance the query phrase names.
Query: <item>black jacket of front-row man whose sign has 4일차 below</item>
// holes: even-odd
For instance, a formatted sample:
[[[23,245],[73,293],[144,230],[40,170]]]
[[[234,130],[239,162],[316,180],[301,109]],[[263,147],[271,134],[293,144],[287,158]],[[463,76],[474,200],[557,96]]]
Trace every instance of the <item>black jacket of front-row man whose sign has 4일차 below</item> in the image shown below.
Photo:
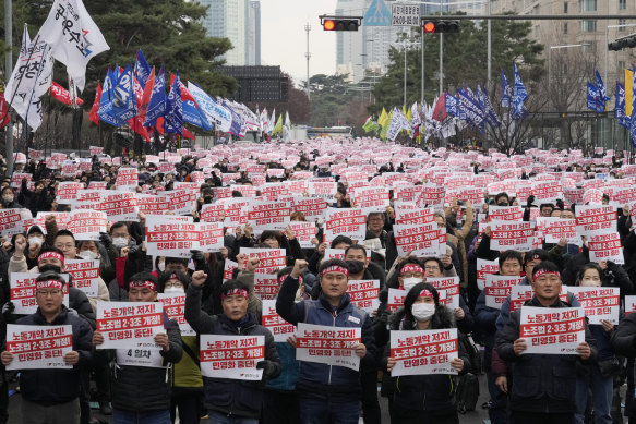
[[[175,319],[164,313],[164,328],[168,335],[170,350],[160,351],[166,368],[149,366],[115,365],[112,376],[112,408],[123,411],[161,411],[170,407],[170,374],[168,363],[177,363],[183,354],[181,330]],[[101,354],[115,358],[116,351],[105,350]]]

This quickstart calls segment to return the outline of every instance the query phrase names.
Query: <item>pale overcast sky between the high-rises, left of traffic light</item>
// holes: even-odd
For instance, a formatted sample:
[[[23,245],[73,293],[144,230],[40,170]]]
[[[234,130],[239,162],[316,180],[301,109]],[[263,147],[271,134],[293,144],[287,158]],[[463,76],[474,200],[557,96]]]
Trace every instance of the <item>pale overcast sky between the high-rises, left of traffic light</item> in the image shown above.
[[[298,85],[307,80],[309,22],[310,75],[336,72],[336,34],[324,32],[321,14],[333,14],[336,0],[261,0],[261,64],[280,65]]]

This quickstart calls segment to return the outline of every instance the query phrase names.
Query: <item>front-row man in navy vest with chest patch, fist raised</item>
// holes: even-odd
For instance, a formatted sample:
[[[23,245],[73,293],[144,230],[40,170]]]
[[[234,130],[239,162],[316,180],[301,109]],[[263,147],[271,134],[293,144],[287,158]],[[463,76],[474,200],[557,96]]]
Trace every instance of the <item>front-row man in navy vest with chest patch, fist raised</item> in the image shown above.
[[[276,312],[288,323],[307,323],[333,327],[361,328],[362,343],[355,352],[362,366],[375,365],[375,341],[370,316],[353,306],[347,293],[349,269],[344,261],[325,261],[319,269],[322,292],[319,300],[295,302],[299,277],[307,262],[297,259],[283,282]],[[360,372],[341,366],[301,361],[296,385],[302,424],[357,424],[360,416]]]

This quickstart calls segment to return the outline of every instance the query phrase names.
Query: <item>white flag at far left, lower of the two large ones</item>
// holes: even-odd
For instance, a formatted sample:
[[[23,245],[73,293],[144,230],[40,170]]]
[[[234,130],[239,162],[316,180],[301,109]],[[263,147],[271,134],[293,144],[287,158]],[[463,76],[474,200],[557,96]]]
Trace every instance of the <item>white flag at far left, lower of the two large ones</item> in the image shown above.
[[[20,57],[7,83],[5,99],[33,131],[41,124],[39,98],[51,85],[52,70],[53,59],[49,46],[41,37],[32,41],[25,25]]]

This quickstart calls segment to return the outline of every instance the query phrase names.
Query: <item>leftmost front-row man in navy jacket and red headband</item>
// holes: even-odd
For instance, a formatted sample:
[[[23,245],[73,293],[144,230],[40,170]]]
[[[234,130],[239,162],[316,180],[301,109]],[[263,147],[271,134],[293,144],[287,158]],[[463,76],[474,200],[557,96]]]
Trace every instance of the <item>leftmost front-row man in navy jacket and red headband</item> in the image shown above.
[[[88,323],[69,313],[62,304],[64,279],[52,271],[36,279],[37,312],[16,324],[29,326],[72,326],[73,350],[64,354],[71,370],[23,370],[20,377],[22,419],[24,423],[80,423],[81,370],[92,361],[93,329]],[[1,354],[9,365],[13,355]]]

